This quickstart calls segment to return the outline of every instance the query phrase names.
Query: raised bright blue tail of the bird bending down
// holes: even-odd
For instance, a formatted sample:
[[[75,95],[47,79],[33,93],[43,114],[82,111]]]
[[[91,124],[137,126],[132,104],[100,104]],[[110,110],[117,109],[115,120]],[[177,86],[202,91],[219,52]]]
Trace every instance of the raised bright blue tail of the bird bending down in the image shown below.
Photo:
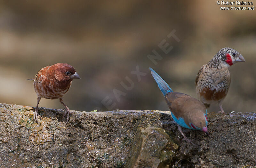
[[[154,71],[152,68],[149,68],[151,70],[151,74],[154,77],[159,89],[162,91],[163,95],[167,95],[169,92],[173,92],[170,86],[160,77],[156,71]]]

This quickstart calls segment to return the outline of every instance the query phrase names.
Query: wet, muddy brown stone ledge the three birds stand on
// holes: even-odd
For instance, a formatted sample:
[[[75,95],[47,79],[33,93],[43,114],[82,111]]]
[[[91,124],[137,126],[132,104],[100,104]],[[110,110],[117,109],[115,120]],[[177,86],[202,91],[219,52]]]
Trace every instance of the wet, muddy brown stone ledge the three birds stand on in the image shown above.
[[[0,167],[254,167],[256,113],[208,114],[209,136],[183,128],[170,112],[72,111],[0,104]],[[39,120],[40,121],[40,120]]]

